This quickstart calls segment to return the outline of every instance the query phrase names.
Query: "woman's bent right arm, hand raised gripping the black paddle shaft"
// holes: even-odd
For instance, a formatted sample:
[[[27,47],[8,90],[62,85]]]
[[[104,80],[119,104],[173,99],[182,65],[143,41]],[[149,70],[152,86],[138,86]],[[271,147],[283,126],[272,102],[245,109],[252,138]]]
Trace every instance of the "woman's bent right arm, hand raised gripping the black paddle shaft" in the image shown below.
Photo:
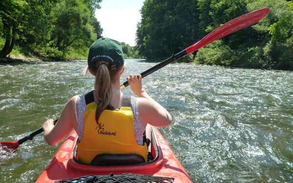
[[[153,100],[142,87],[142,77],[129,75],[126,78],[132,91],[137,95],[139,119],[146,126],[147,123],[153,126],[168,126],[172,122],[169,112],[158,102]]]

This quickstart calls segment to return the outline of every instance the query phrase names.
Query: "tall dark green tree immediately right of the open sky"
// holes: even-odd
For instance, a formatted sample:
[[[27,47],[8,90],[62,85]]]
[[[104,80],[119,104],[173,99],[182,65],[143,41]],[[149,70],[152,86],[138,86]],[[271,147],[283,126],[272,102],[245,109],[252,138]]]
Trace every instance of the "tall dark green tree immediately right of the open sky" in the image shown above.
[[[197,0],[146,0],[136,44],[148,59],[165,59],[198,39]]]

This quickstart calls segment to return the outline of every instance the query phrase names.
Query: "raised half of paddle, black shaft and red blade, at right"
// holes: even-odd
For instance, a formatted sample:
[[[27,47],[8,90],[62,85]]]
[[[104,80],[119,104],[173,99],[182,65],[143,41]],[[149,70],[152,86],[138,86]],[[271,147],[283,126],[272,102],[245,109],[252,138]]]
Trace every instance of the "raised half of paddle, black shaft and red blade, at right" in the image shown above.
[[[166,66],[167,64],[169,64],[173,61],[176,61],[177,59],[180,59],[181,57],[183,57],[185,55],[188,55],[189,53],[192,53],[196,50],[199,50],[200,48],[206,46],[207,44],[209,44],[213,41],[221,39],[224,36],[227,36],[233,32],[236,32],[240,29],[243,29],[245,27],[248,27],[248,26],[256,23],[257,21],[264,18],[269,12],[270,12],[269,8],[263,8],[263,9],[259,9],[259,10],[247,13],[245,15],[237,17],[236,19],[228,21],[224,25],[221,25],[220,27],[218,27],[215,30],[213,30],[212,32],[210,32],[202,40],[189,46],[188,48],[177,53],[176,55],[172,55],[170,58],[166,59],[165,61],[162,61],[162,62],[158,63],[157,65],[149,68],[148,70],[142,72],[141,73],[142,78],[148,76],[149,74],[155,72],[156,70],[159,70],[160,68]],[[120,89],[122,90],[126,86],[129,86],[129,83],[127,81],[120,85]]]

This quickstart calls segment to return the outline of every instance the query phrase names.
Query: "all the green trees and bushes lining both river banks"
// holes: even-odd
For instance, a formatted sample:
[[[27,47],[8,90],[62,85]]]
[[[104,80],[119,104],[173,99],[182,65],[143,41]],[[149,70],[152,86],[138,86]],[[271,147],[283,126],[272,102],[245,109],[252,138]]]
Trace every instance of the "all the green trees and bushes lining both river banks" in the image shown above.
[[[101,1],[0,0],[0,58],[13,48],[46,58],[86,58],[103,31],[94,16]],[[145,0],[136,47],[122,43],[125,57],[164,60],[221,24],[264,7],[271,11],[263,20],[181,61],[293,70],[292,0]]]

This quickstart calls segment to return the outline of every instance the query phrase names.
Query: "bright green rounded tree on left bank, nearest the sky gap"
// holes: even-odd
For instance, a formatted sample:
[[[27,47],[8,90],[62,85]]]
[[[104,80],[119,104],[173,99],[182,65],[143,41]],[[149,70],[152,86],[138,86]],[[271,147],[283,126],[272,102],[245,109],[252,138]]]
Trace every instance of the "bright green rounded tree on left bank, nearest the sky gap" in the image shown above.
[[[90,12],[80,0],[61,0],[54,9],[56,23],[52,31],[53,46],[65,52],[68,46],[88,45],[96,37],[89,24]]]

